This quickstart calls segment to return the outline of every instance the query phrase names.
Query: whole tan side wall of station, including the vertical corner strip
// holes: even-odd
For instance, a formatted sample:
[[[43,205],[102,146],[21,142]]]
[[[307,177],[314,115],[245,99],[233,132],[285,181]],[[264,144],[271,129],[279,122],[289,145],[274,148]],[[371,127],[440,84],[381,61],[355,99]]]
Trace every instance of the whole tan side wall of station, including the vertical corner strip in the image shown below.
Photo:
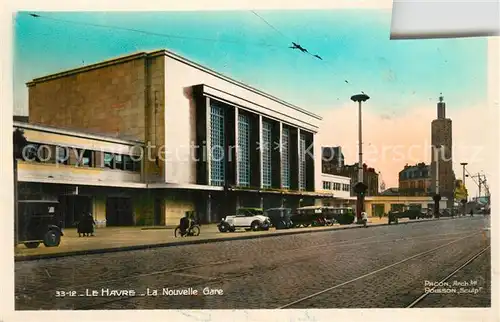
[[[149,142],[144,179],[164,181],[165,164],[155,162],[165,143],[163,55],[125,57],[28,86],[31,123]]]

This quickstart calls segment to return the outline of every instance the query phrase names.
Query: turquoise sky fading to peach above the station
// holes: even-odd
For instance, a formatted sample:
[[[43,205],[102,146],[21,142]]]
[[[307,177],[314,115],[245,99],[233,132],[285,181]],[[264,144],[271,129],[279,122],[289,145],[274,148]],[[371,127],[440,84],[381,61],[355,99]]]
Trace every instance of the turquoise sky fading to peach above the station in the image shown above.
[[[406,163],[430,161],[430,123],[443,93],[457,176],[464,159],[471,172],[495,171],[485,161],[495,143],[485,130],[497,126],[485,110],[486,38],[389,40],[390,9],[37,14],[15,19],[16,114],[27,114],[33,78],[166,48],[321,115],[318,140],[342,146],[348,163],[358,140],[350,97],[364,91],[365,160],[387,187],[397,186]],[[292,41],[323,60],[289,48]]]

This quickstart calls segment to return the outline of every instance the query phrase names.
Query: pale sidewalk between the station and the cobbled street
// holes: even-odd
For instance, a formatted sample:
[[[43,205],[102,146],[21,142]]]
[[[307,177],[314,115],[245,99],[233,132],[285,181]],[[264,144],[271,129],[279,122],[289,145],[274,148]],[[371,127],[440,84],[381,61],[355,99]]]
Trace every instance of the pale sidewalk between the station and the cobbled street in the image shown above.
[[[428,220],[412,220],[422,222]],[[408,219],[400,220],[400,224],[410,222]],[[369,226],[387,225],[387,218],[369,218]],[[97,228],[93,237],[78,237],[76,229],[64,229],[59,247],[45,247],[41,244],[38,248],[29,249],[24,245],[15,247],[15,260],[34,260],[41,258],[73,256],[83,254],[96,254],[104,252],[146,249],[186,244],[199,244],[225,240],[251,239],[271,237],[276,235],[291,235],[313,233],[319,231],[342,230],[360,228],[361,225],[334,225],[331,227],[308,227],[269,231],[237,230],[234,233],[220,233],[216,224],[202,225],[201,234],[196,237],[175,238],[173,228],[154,227],[105,227]]]

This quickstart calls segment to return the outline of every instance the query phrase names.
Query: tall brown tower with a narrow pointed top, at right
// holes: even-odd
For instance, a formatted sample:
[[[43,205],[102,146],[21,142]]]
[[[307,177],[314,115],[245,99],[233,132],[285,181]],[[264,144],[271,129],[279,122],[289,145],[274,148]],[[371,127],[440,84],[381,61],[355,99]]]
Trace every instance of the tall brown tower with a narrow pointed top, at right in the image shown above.
[[[439,194],[448,200],[448,208],[453,207],[455,174],[453,172],[452,155],[452,121],[446,118],[446,103],[443,97],[439,97],[437,104],[437,119],[431,123],[432,136],[432,162],[431,162],[431,191],[436,192],[436,179],[438,178]],[[436,176],[436,149],[440,147],[438,153],[439,174]]]

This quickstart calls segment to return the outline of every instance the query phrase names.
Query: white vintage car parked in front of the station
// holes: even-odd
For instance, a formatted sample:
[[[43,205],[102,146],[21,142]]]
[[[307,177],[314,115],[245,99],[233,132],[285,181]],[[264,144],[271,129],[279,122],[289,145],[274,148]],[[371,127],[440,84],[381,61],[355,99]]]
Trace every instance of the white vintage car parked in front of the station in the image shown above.
[[[236,215],[226,216],[217,225],[221,233],[233,232],[238,228],[247,230],[268,230],[271,226],[269,217],[259,208],[239,208]]]

